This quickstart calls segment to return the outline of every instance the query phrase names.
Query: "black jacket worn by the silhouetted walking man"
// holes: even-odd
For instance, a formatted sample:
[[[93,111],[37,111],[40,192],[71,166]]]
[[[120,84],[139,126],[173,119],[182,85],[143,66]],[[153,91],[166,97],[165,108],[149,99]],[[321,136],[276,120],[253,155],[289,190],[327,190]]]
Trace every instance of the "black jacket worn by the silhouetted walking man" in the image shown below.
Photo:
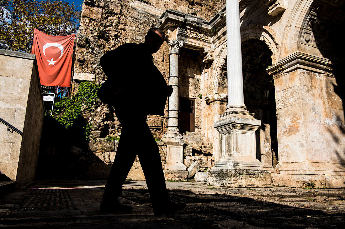
[[[100,64],[108,79],[97,93],[100,100],[162,116],[167,83],[152,60],[144,44],[126,43],[104,54]]]

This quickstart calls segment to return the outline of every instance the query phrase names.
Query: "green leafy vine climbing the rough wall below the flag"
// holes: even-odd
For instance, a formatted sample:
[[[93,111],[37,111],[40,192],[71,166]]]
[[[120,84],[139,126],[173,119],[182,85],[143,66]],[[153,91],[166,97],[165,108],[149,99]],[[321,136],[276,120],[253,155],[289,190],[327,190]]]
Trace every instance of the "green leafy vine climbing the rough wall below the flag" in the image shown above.
[[[99,88],[100,85],[91,82],[80,83],[75,95],[55,103],[52,117],[68,130],[88,140],[92,125],[82,117],[81,106],[85,105],[90,111],[98,99]],[[50,111],[47,110],[46,115],[50,115]]]

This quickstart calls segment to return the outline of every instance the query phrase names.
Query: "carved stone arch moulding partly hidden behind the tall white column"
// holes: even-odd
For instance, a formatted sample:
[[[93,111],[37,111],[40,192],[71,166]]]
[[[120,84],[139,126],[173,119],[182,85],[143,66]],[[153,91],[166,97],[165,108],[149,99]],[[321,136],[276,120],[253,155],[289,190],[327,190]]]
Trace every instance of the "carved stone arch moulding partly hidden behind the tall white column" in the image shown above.
[[[266,25],[258,25],[252,24],[248,25],[245,28],[241,29],[241,43],[249,40],[249,39],[258,39],[268,46],[269,50],[273,53],[272,54],[272,63],[275,63],[279,60],[280,57],[280,43],[276,36],[276,33],[273,29]],[[218,83],[221,78],[221,74],[226,65],[226,58],[227,58],[227,48],[226,44],[223,44],[218,55],[218,59],[215,64],[215,69],[213,71],[213,80],[211,87],[209,87],[208,94],[214,95],[214,93],[218,92]]]

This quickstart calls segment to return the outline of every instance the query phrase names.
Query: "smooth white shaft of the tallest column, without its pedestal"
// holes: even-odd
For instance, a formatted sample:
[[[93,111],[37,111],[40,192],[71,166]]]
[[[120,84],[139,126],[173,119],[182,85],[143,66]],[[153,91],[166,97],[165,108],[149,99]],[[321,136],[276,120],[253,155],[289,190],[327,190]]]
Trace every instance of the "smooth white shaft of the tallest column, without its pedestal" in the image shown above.
[[[228,105],[226,111],[245,110],[243,96],[241,31],[238,0],[226,0]]]

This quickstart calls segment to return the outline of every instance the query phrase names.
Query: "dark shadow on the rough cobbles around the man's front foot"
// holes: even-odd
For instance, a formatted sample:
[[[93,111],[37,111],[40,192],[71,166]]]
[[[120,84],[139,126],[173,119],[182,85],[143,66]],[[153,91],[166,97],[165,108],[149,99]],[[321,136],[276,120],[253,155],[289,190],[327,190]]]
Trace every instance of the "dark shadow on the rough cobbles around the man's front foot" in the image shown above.
[[[190,228],[343,228],[343,213],[285,206],[268,201],[224,194],[195,194],[189,190],[169,190],[173,201],[187,207],[170,217]],[[139,204],[149,204],[147,189],[127,189],[122,196]],[[226,222],[228,221],[228,222]],[[236,222],[237,221],[237,222]],[[221,226],[221,227],[220,227]]]

